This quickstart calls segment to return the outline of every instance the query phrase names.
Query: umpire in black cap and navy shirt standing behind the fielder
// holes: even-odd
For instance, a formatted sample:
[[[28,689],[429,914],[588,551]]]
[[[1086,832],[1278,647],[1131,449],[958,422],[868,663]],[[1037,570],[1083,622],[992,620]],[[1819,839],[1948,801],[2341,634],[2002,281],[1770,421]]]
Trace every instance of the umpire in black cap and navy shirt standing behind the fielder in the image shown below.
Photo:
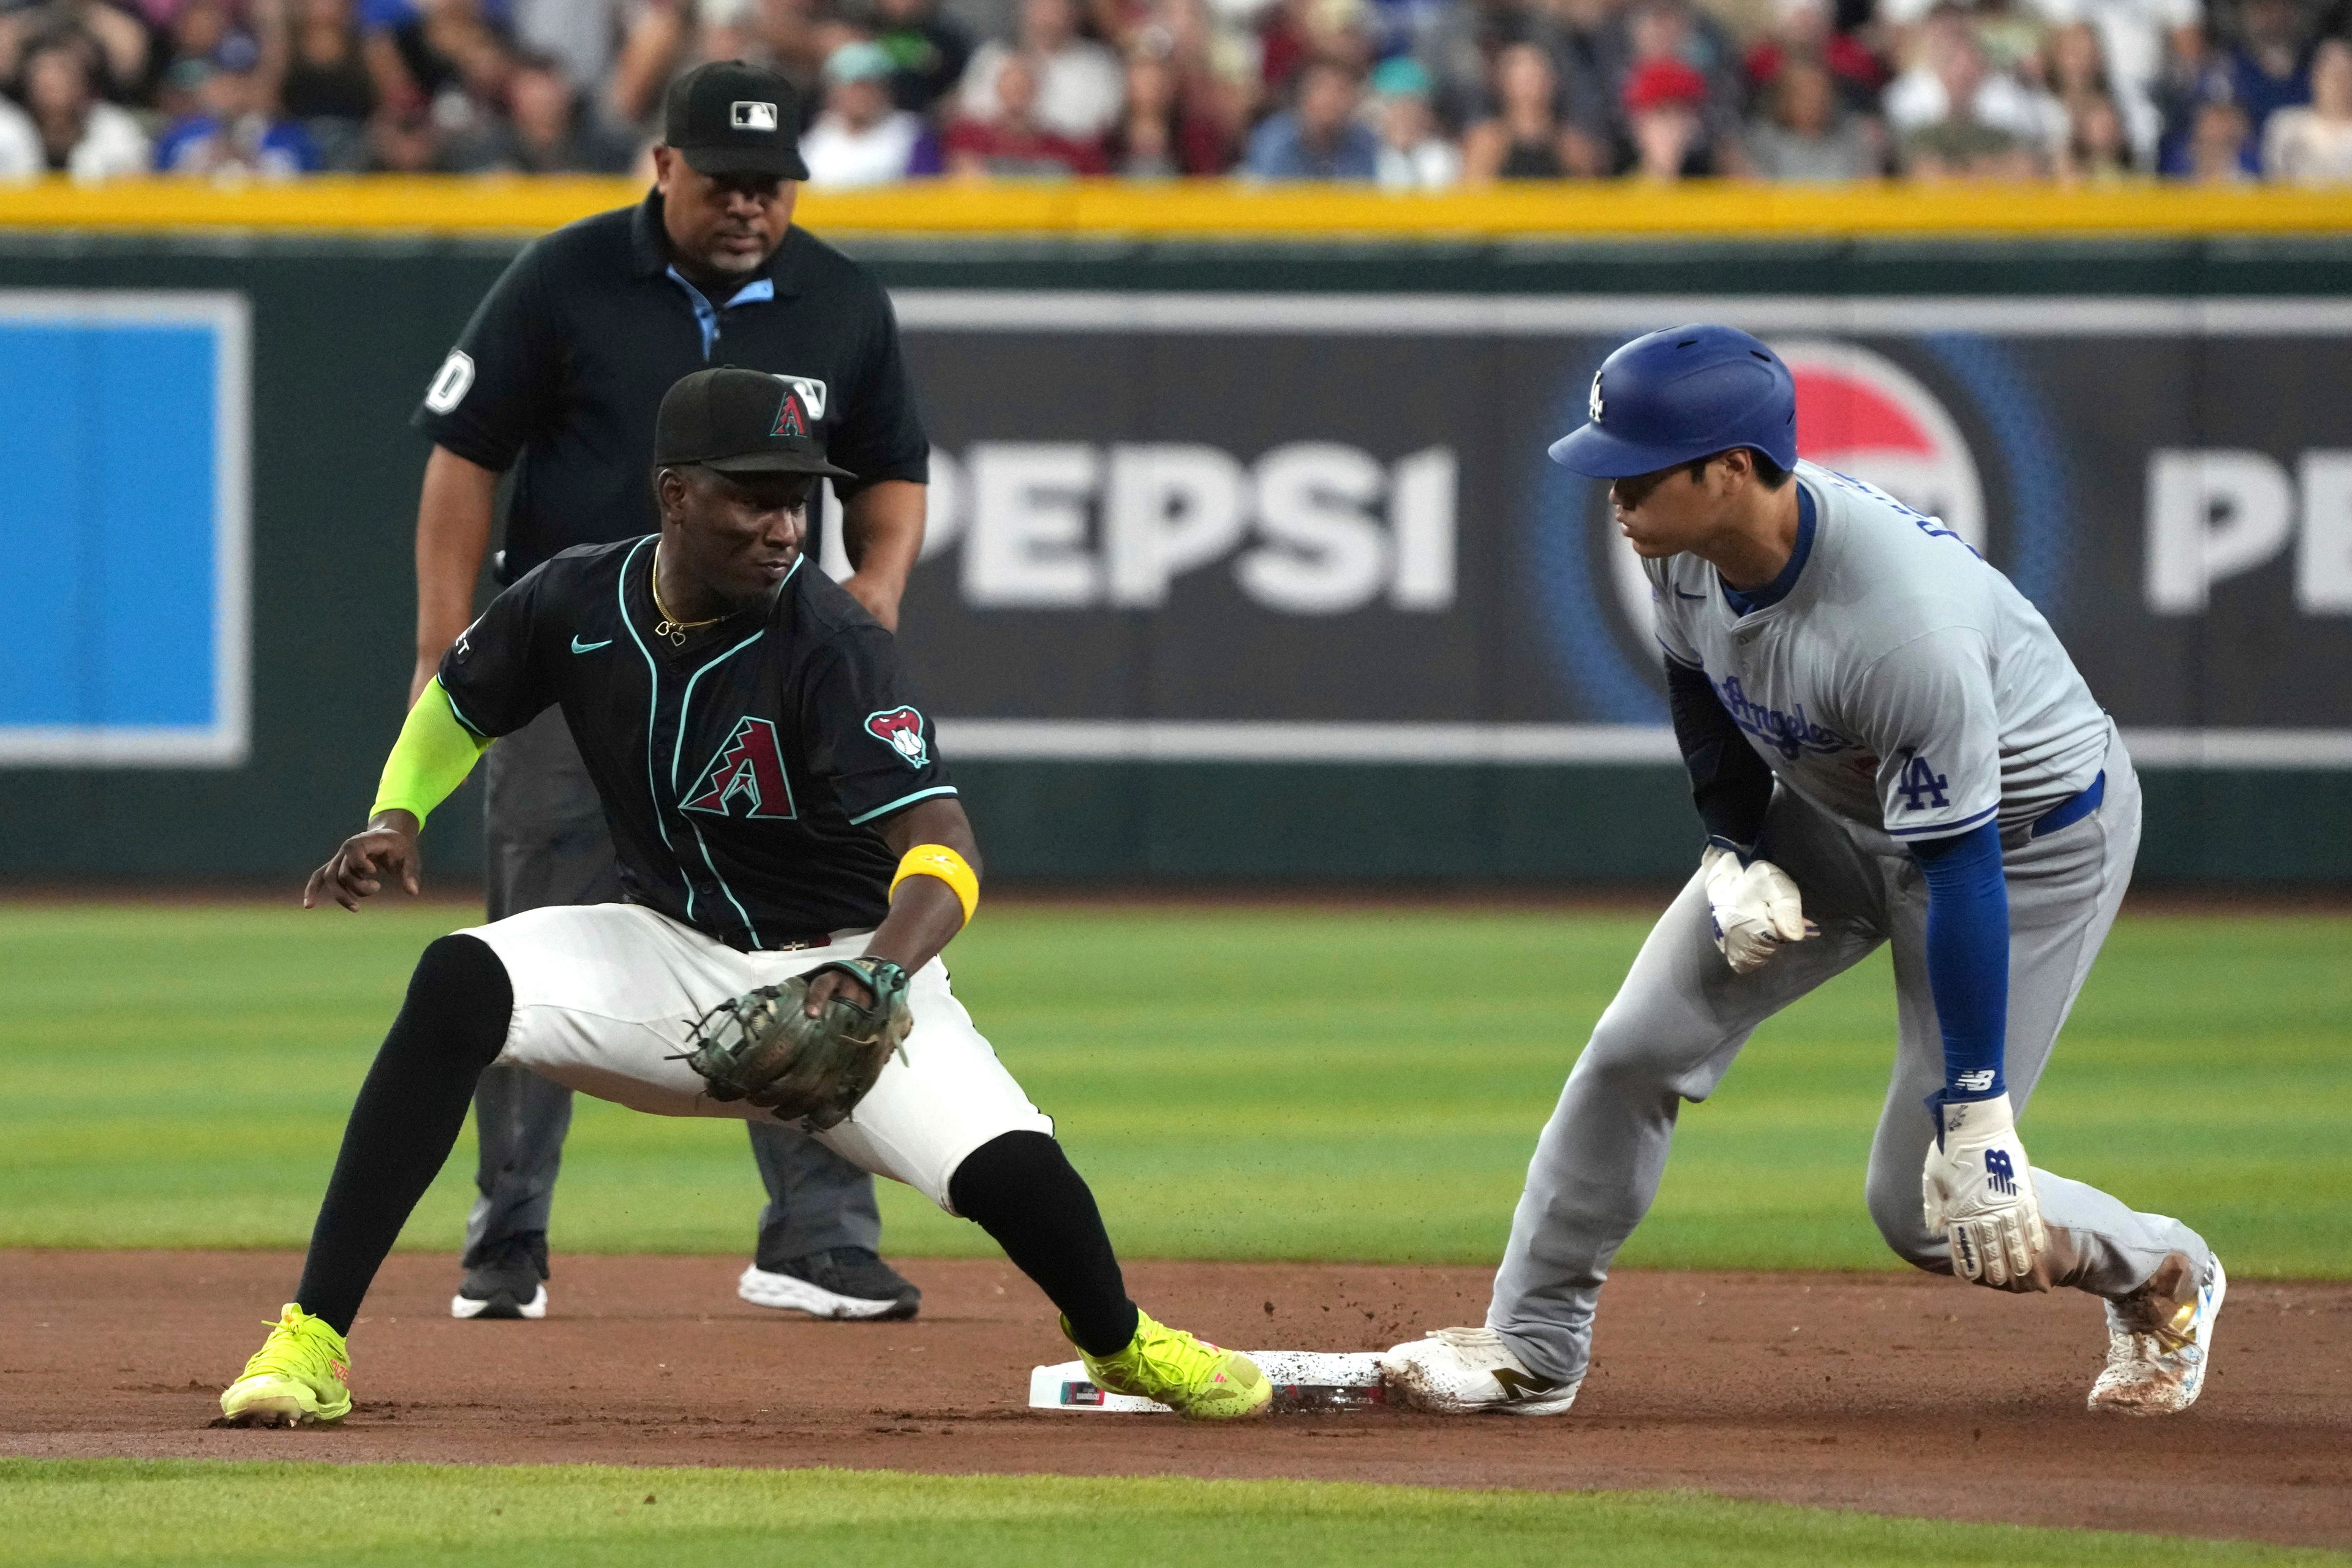
[[[416,411],[433,437],[416,508],[416,679],[473,621],[499,475],[513,491],[496,578],[572,545],[654,529],[647,475],[661,395],[706,364],[800,388],[807,430],[858,475],[840,484],[847,588],[884,628],[922,545],[929,442],[882,287],[804,228],[793,200],[800,103],[771,71],[699,66],[663,103],[656,186],[527,247],[482,299]],[[786,404],[793,407],[793,404]],[[489,917],[626,898],[595,788],[560,712],[487,757]],[[543,1316],[548,1208],[572,1091],[492,1067],[475,1091],[482,1197],[454,1316]],[[906,1319],[920,1291],[875,1246],[873,1178],[800,1131],[750,1126],[767,1185],[739,1293],[814,1316]]]

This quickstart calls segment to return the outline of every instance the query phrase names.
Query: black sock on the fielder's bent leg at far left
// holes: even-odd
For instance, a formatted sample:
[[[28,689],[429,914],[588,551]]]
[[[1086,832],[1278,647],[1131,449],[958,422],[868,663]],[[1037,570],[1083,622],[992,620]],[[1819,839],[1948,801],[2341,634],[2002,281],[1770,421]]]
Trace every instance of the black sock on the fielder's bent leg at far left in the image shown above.
[[[294,1291],[336,1333],[350,1333],[383,1255],[456,1147],[473,1084],[499,1060],[513,1013],[506,964],[480,938],[445,936],[416,959],[409,999],[350,1107]]]

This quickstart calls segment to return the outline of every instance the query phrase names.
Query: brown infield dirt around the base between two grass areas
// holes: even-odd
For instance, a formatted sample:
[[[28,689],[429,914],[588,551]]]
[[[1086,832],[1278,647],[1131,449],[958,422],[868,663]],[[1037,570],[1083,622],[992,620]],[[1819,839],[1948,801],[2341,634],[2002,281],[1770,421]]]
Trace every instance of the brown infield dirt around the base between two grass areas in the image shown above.
[[[1068,1359],[1000,1262],[915,1262],[915,1324],[734,1298],[739,1260],[562,1258],[543,1324],[447,1316],[454,1265],[400,1255],[353,1331],[360,1408],[325,1432],[207,1427],[292,1293],[282,1253],[0,1253],[0,1453],[924,1472],[1437,1486],[1691,1486],[1886,1514],[2352,1547],[2352,1286],[2237,1281],[2199,1408],[2082,1408],[2079,1295],[1919,1276],[1639,1274],[1559,1420],[1402,1413],[1240,1429],[1023,1406]],[[1181,1265],[1136,1298],[1211,1338],[1371,1349],[1475,1321],[1484,1269]]]

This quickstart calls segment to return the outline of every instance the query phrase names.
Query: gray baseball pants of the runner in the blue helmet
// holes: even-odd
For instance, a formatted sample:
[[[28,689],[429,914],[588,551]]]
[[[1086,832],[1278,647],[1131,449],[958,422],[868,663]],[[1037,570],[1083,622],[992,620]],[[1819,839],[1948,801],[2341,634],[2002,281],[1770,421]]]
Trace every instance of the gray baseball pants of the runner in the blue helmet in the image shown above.
[[[1715,1093],[1759,1023],[1879,943],[1893,943],[1896,959],[1896,1072],[1870,1145],[1865,1197],[1886,1246],[1922,1269],[1952,1272],[1945,1239],[1919,1213],[1919,1171],[1936,1135],[1924,1100],[1943,1088],[1943,1034],[1926,983],[1926,882],[1900,846],[1867,837],[1877,842],[1776,790],[1764,853],[1795,877],[1820,936],[1736,976],[1715,947],[1708,891],[1696,875],[1649,933],[1536,1143],[1496,1272],[1486,1326],[1529,1371],[1583,1378],[1602,1281],[1658,1197],[1682,1103]],[[2107,748],[2107,795],[2098,811],[2042,839],[2023,830],[2004,837],[2006,1077],[2020,1114],[2114,924],[2138,846],[2140,780],[2119,741]],[[2032,1154],[2032,1128],[2023,1131]],[[2178,1220],[2133,1213],[2039,1166],[2034,1197],[2051,1232],[2051,1260],[2046,1284],[2027,1288],[2060,1284],[2112,1300],[2159,1269],[2166,1281],[2204,1272],[2206,1244]]]

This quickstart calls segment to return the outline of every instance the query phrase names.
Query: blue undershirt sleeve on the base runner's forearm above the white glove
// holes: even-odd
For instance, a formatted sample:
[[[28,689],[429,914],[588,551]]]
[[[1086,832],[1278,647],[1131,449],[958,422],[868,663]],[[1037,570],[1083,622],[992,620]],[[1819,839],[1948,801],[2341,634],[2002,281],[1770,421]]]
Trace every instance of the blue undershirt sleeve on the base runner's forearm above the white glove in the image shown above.
[[[1943,1095],[1990,1100],[2009,1093],[2002,1058],[2009,1044],[2009,882],[2002,877],[2002,830],[1969,832],[1910,846],[1926,872],[1926,985],[1943,1030]]]

